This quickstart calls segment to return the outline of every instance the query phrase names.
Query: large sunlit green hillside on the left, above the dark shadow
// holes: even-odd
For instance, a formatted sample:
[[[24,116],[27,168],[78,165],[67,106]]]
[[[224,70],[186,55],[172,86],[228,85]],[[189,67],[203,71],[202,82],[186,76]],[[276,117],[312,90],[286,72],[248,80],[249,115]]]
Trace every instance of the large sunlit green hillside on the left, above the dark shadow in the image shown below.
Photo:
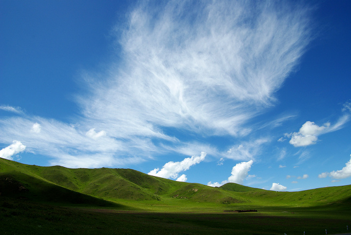
[[[0,172],[14,170],[82,194],[117,201],[191,200],[195,202],[235,203],[247,199],[230,191],[202,184],[177,182],[149,176],[131,169],[69,169],[61,166],[39,167],[0,159]]]

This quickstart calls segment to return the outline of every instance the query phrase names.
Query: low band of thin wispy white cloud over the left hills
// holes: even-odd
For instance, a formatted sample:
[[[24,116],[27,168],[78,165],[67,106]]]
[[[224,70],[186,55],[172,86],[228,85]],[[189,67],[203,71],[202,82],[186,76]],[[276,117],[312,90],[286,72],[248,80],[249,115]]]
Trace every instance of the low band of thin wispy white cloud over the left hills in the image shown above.
[[[40,123],[40,135],[32,131],[33,123]],[[122,165],[134,160],[142,162],[143,158],[144,160],[147,158],[114,156],[127,151],[132,154],[134,149],[140,148],[146,151],[145,145],[152,151],[150,143],[144,143],[142,139],[136,140],[136,143],[129,143],[127,149],[116,139],[109,137],[92,139],[78,128],[53,119],[11,117],[0,119],[0,127],[3,133],[6,133],[0,135],[1,141],[12,141],[11,137],[21,139],[26,143],[28,152],[52,158],[50,164],[72,168]]]

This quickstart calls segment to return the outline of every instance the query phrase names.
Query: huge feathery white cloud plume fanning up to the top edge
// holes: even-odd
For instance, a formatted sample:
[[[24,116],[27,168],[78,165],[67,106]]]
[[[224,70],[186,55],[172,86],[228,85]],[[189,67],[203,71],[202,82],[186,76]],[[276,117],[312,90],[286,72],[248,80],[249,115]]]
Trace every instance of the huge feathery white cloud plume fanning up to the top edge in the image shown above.
[[[273,100],[304,51],[306,10],[281,14],[259,3],[252,14],[246,2],[198,2],[184,15],[187,3],[160,5],[131,12],[119,41],[126,67],[109,71],[108,86],[87,78],[84,115],[113,123],[109,135],[169,138],[159,132],[165,126],[247,135],[243,125],[258,114],[256,105]]]

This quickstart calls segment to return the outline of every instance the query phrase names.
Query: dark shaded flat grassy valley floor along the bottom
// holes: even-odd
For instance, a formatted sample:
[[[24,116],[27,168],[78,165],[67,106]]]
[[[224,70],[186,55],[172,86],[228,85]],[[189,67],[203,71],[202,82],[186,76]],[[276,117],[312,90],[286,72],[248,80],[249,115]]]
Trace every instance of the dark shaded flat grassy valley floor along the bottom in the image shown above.
[[[195,209],[195,208],[193,208]],[[289,208],[285,208],[289,209]],[[0,198],[2,234],[240,234],[322,235],[348,232],[345,213],[297,210],[250,213],[118,211],[111,208],[60,207]],[[288,210],[287,210],[288,211]]]

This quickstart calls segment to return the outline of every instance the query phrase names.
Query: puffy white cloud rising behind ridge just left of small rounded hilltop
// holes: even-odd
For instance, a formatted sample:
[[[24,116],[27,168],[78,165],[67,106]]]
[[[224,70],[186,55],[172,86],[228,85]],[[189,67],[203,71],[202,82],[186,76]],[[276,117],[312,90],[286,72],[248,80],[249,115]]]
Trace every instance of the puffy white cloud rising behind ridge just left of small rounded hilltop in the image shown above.
[[[232,175],[228,177],[227,180],[223,180],[221,183],[211,181],[207,183],[208,186],[219,187],[226,183],[237,183],[242,184],[244,179],[248,176],[251,166],[253,164],[253,160],[247,162],[237,163],[232,169]]]

